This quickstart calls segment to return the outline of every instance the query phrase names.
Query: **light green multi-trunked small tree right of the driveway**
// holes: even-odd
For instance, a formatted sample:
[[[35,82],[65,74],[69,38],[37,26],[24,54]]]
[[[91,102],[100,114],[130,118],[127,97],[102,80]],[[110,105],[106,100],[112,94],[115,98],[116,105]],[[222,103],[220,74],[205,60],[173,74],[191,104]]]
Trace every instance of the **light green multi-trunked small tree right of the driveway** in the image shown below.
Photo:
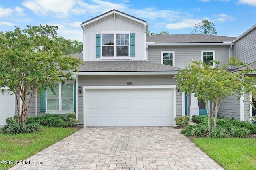
[[[210,67],[210,63],[215,62],[216,67]],[[176,79],[180,92],[187,92],[187,94],[193,94],[199,101],[206,103],[207,115],[208,115],[208,128],[210,130],[210,114],[212,114],[212,128],[216,128],[216,119],[218,109],[223,99],[228,96],[238,93],[240,98],[242,95],[255,94],[255,77],[246,76],[245,74],[251,73],[253,70],[246,69],[242,72],[229,73],[226,70],[226,65],[219,68],[220,61],[210,61],[209,64],[205,64],[202,61],[191,61],[191,64],[178,72]],[[229,65],[235,65],[237,67],[245,66],[246,63],[242,63],[231,57],[228,60]],[[250,96],[250,95],[248,95]],[[208,104],[211,102],[212,108]]]

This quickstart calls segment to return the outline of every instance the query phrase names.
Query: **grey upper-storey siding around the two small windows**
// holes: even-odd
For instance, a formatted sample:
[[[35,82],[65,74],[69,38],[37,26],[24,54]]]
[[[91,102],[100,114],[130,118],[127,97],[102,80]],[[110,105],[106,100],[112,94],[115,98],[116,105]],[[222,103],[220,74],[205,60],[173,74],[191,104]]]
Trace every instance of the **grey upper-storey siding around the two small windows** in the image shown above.
[[[185,68],[186,63],[192,59],[201,60],[202,50],[215,50],[215,60],[221,61],[220,67],[227,63],[229,58],[230,45],[216,46],[148,46],[148,61],[152,63],[161,63],[161,51],[174,51],[174,66]]]

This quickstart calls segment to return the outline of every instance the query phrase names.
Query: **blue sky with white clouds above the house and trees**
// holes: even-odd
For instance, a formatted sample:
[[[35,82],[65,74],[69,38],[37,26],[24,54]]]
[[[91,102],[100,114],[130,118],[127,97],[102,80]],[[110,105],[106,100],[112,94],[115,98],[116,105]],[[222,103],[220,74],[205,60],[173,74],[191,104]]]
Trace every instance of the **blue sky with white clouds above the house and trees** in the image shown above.
[[[58,35],[82,42],[82,22],[112,9],[149,23],[159,33],[190,34],[207,19],[220,36],[239,36],[256,24],[256,0],[0,0],[0,30],[58,26]]]

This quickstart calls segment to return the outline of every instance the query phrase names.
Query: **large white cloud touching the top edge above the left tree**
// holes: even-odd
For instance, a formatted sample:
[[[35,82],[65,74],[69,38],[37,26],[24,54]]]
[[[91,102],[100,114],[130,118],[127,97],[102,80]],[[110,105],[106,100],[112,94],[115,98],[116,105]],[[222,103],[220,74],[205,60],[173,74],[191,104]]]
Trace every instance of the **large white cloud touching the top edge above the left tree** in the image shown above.
[[[55,16],[55,17],[68,17],[70,10],[76,4],[73,0],[26,0],[22,5],[32,10],[37,15]]]

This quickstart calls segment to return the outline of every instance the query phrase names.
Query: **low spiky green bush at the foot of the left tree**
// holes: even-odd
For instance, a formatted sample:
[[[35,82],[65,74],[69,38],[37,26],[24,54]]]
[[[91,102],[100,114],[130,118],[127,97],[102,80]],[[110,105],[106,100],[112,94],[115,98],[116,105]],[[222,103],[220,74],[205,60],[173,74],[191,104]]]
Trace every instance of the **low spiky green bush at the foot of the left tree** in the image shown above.
[[[4,134],[36,133],[42,131],[42,126],[39,123],[8,123],[1,130]]]

